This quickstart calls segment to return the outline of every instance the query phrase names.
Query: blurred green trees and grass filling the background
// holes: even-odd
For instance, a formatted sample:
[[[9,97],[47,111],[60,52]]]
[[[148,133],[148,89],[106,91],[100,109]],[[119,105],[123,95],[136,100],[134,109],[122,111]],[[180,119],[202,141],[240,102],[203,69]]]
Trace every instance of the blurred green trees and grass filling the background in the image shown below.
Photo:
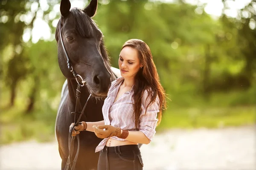
[[[84,8],[86,0],[71,0]],[[2,142],[52,139],[61,86],[55,26],[60,0],[0,0]],[[99,0],[93,17],[118,68],[122,44],[131,38],[151,48],[169,98],[159,130],[222,127],[255,121],[256,1],[230,17],[207,4],[170,0]],[[213,7],[212,7],[213,8]],[[41,32],[36,31],[42,28]],[[15,126],[13,125],[15,123]],[[38,132],[31,128],[40,127]],[[11,129],[10,129],[11,127]],[[37,128],[38,129],[38,128]],[[8,133],[12,130],[13,133]]]

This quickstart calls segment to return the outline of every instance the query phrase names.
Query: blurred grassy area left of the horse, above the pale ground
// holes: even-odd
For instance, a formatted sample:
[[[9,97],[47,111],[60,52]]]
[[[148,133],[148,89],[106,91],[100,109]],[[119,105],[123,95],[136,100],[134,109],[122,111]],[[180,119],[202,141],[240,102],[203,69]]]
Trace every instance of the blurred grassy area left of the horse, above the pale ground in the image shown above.
[[[54,138],[55,117],[57,111],[51,110],[42,104],[41,110],[25,113],[26,104],[18,99],[12,108],[6,103],[0,105],[0,144],[26,141],[35,139],[38,142],[51,141]]]

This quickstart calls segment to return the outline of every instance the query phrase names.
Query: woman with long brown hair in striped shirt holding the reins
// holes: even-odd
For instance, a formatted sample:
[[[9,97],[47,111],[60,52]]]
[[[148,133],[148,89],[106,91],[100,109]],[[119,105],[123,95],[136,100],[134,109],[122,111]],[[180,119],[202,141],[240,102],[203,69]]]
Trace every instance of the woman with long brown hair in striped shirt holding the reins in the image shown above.
[[[151,51],[142,40],[125,42],[118,65],[122,77],[111,84],[102,107],[104,120],[81,122],[72,135],[88,130],[103,139],[96,147],[98,170],[142,170],[138,144],[153,139],[166,108],[166,94]]]

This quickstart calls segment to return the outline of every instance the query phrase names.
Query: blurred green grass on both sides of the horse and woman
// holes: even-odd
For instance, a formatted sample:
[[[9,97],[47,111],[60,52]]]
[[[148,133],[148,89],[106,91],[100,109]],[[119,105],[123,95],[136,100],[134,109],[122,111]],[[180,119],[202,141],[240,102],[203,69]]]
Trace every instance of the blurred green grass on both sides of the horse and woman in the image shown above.
[[[0,116],[1,144],[30,139],[47,142],[54,139],[55,111],[49,113],[35,111],[31,114],[33,116],[24,115],[21,108],[2,111]],[[169,109],[164,113],[157,131],[161,132],[170,128],[215,128],[253,125],[255,120],[256,109],[254,106]]]

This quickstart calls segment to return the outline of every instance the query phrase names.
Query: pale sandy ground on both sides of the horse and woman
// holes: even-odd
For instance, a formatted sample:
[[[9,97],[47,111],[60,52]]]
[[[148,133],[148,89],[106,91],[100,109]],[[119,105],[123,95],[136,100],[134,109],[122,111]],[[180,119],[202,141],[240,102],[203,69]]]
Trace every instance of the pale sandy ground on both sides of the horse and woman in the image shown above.
[[[144,170],[256,170],[256,126],[169,130],[141,147]],[[56,141],[0,147],[0,170],[60,170]]]

